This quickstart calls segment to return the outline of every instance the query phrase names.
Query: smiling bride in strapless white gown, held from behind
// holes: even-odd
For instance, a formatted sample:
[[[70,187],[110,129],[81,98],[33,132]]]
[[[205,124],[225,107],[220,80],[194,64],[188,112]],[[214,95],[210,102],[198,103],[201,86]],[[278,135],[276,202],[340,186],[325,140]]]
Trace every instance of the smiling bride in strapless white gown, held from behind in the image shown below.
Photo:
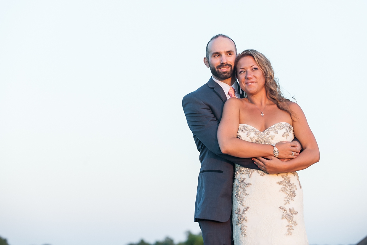
[[[308,244],[303,217],[303,192],[296,170],[319,161],[319,148],[298,104],[284,98],[270,61],[256,50],[245,50],[235,61],[235,74],[246,92],[224,105],[218,128],[221,151],[248,158],[261,170],[236,164],[233,184],[233,239],[235,244]],[[292,141],[303,151],[293,159],[277,159],[275,144]],[[260,157],[256,148],[240,151],[246,140],[268,144],[273,156]],[[292,154],[296,155],[296,154]]]

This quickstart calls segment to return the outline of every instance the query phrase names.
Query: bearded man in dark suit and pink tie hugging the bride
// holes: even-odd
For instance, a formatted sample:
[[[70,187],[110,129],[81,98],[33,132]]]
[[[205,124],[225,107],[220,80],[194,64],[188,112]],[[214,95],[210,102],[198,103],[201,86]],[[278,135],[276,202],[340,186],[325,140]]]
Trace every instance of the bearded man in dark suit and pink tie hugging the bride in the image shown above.
[[[204,64],[210,68],[212,77],[182,100],[187,123],[200,152],[195,221],[199,222],[206,245],[233,244],[231,214],[234,163],[259,169],[251,158],[222,154],[218,145],[217,130],[224,102],[230,97],[242,98],[244,95],[233,75],[236,56],[236,44],[232,39],[225,35],[212,37],[204,57]],[[264,156],[269,155],[273,155],[273,152],[269,151]]]

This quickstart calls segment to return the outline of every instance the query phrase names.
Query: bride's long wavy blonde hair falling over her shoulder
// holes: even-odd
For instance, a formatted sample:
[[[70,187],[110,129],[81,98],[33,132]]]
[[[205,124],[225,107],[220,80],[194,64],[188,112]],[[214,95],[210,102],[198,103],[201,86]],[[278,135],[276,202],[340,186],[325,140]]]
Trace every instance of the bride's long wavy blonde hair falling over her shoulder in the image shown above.
[[[290,100],[284,98],[283,94],[281,93],[279,87],[279,81],[277,78],[274,78],[274,70],[272,64],[270,63],[268,58],[265,57],[264,54],[253,49],[247,49],[243,51],[241,54],[239,54],[235,60],[235,67],[234,67],[236,76],[237,76],[237,64],[241,60],[241,58],[246,56],[251,56],[252,58],[254,58],[256,64],[259,66],[262,73],[264,74],[266,96],[275,100],[277,107],[282,111],[286,111],[292,117],[294,113],[292,112],[291,109],[289,109],[287,103]]]

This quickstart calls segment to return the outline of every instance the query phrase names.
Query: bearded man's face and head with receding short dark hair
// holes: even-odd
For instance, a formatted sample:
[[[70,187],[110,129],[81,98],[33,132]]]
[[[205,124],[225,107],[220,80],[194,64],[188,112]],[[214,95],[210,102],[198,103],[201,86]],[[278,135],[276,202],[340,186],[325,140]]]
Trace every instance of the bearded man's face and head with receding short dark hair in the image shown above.
[[[208,45],[209,59],[204,63],[210,68],[214,78],[226,80],[233,76],[233,66],[236,60],[236,47],[232,40],[226,37],[217,37]]]

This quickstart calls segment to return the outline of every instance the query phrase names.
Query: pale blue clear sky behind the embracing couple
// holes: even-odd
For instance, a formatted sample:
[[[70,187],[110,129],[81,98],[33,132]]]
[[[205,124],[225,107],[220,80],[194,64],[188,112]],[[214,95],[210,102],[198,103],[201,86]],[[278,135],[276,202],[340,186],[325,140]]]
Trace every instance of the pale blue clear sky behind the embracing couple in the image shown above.
[[[200,169],[181,100],[208,40],[272,62],[320,147],[299,172],[310,244],[367,235],[366,1],[0,1],[0,236],[185,239]]]

